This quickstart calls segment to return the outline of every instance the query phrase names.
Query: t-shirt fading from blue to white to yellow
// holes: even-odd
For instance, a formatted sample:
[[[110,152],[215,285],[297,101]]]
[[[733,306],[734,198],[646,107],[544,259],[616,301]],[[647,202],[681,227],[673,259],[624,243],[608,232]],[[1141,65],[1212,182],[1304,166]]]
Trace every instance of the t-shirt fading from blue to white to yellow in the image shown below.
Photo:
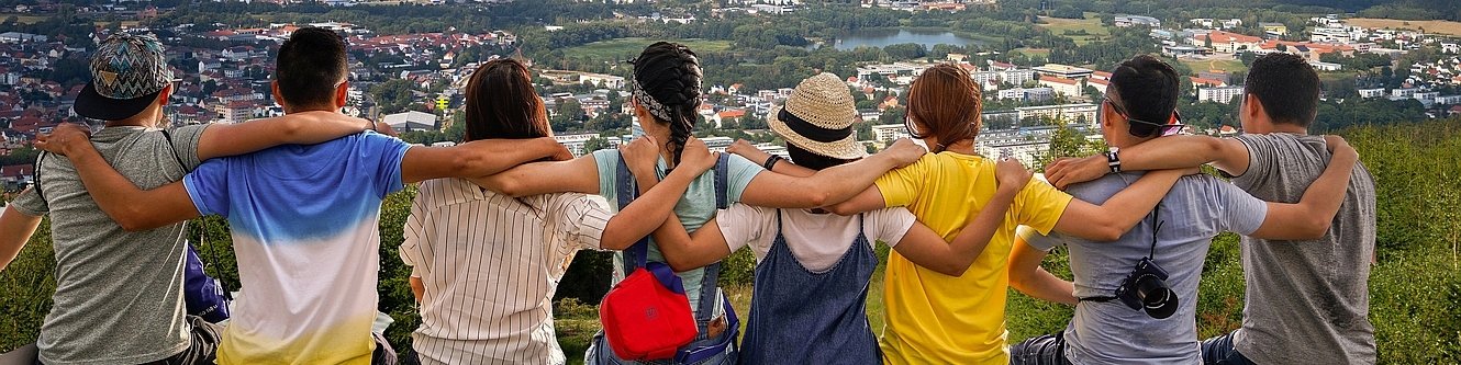
[[[365,131],[210,159],[183,182],[199,213],[232,226],[248,295],[219,364],[368,364],[380,203],[411,146]]]

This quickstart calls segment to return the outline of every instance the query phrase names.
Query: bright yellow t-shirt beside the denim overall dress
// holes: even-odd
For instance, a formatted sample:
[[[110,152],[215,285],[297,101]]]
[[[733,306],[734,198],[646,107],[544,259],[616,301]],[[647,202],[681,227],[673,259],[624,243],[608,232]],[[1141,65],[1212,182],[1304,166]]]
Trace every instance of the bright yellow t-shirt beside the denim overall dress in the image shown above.
[[[995,194],[995,162],[953,152],[929,153],[878,178],[888,207],[907,206],[919,222],[953,239]],[[884,279],[887,364],[1010,364],[1005,292],[1018,225],[1049,234],[1071,196],[1031,180],[1014,199],[993,239],[964,276],[923,269],[897,251]]]

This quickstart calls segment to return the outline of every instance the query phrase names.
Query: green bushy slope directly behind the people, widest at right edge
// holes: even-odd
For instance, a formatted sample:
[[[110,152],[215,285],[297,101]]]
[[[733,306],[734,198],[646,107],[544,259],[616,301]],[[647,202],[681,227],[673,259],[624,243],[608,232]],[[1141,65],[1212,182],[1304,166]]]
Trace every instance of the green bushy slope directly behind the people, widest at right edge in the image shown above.
[[[1349,127],[1338,134],[1359,149],[1375,177],[1378,201],[1378,264],[1370,274],[1370,320],[1375,323],[1381,364],[1461,362],[1461,120]],[[396,323],[387,337],[403,352],[419,324],[396,247],[415,190],[390,196],[381,207],[380,310]],[[221,276],[237,285],[226,223],[194,220],[194,242],[209,260],[216,250]],[[202,238],[199,238],[202,235]],[[1069,274],[1064,253],[1046,267]],[[751,285],[752,260],[745,251],[726,264],[729,291]],[[606,254],[580,254],[560,289],[560,339],[570,358],[581,356],[581,340],[596,326],[598,302],[608,289]],[[35,340],[56,288],[48,223],[29,241],[15,263],[0,272],[0,352]],[[881,288],[880,288],[881,289]],[[877,295],[875,291],[874,295]],[[1198,302],[1201,337],[1226,333],[1242,318],[1243,276],[1237,238],[1221,235],[1207,257]],[[733,299],[742,302],[747,298]],[[869,305],[869,311],[881,305]],[[744,308],[742,308],[744,311]],[[1011,342],[1065,327],[1071,310],[1011,295]],[[577,352],[577,353],[576,353]]]

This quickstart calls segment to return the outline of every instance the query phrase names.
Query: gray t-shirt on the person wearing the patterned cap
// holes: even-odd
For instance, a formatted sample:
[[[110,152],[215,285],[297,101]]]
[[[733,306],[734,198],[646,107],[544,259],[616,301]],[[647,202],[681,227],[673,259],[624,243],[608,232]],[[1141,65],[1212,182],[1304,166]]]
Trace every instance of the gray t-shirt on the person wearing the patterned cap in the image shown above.
[[[171,130],[108,127],[92,146],[143,190],[156,188],[199,165],[197,140],[206,126]],[[174,158],[172,150],[181,158]],[[76,166],[45,155],[37,166],[41,194],[20,193],[20,213],[51,215],[56,250],[56,304],[41,324],[41,361],[48,364],[143,364],[188,347],[183,302],[184,225],[127,232],[86,193]]]

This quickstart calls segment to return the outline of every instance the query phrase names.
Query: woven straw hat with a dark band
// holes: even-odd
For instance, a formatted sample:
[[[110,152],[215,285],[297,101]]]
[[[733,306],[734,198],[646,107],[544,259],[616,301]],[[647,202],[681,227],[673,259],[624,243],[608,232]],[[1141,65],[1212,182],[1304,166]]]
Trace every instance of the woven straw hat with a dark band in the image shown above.
[[[771,108],[767,124],[786,143],[808,152],[836,158],[859,159],[868,155],[858,145],[852,123],[858,121],[858,105],[837,74],[821,73],[796,85],[785,107]]]

